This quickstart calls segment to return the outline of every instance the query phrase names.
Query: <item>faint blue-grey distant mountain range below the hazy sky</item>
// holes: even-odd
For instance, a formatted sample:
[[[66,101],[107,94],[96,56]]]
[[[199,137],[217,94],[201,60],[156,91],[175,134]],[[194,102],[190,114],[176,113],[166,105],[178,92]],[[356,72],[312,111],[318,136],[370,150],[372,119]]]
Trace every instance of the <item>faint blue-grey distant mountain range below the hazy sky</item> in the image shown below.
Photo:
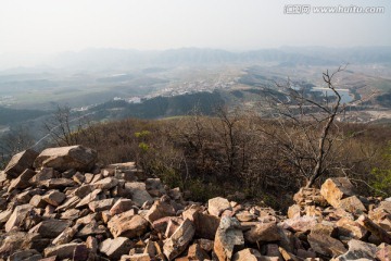
[[[1,59],[1,58],[0,58]],[[391,64],[391,47],[282,47],[244,52],[220,49],[181,48],[165,51],[121,49],[87,49],[63,52],[46,59],[39,66],[45,71],[115,71],[150,66],[200,66],[227,63],[276,63],[283,66],[336,65],[343,63]],[[1,65],[1,64],[0,64]],[[4,64],[2,64],[4,66]],[[17,73],[28,69],[17,69]],[[10,73],[10,71],[8,71]]]

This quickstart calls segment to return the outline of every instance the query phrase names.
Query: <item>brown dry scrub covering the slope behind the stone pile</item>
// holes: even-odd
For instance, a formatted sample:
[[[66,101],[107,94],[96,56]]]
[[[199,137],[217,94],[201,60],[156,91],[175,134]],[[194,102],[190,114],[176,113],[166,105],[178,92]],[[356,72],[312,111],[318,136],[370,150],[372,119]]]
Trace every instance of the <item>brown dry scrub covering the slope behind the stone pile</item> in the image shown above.
[[[329,176],[345,175],[358,181],[356,185],[365,187],[363,191],[373,191],[367,187],[373,183],[371,170],[390,167],[382,158],[391,137],[390,127],[342,123],[338,126],[345,138],[336,141],[319,183]],[[281,132],[276,121],[220,111],[217,117],[195,114],[97,124],[80,133],[78,140],[98,151],[100,163],[136,161],[148,174],[190,190],[197,200],[240,191],[268,203],[287,204],[281,191],[295,192],[305,185],[306,177],[265,129]],[[295,146],[298,151],[306,149],[300,135]]]

